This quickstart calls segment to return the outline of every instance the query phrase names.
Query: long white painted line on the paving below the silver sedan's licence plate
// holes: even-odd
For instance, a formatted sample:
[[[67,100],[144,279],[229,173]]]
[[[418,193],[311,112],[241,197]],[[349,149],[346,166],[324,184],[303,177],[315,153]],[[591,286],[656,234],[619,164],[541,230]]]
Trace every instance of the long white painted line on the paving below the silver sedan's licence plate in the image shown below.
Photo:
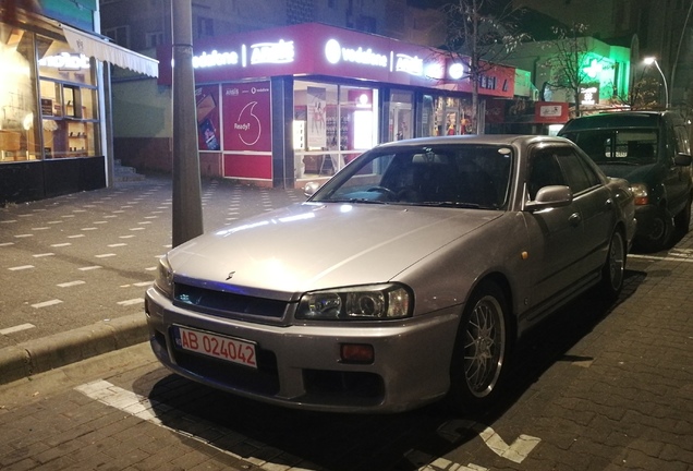
[[[88,398],[97,400],[102,404],[108,407],[112,407],[122,412],[129,413],[133,416],[142,419],[143,421],[153,423],[171,432],[174,432],[179,435],[182,435],[186,438],[192,438],[195,442],[202,443],[205,446],[208,446],[215,450],[218,450],[224,455],[231,456],[238,460],[250,462],[255,467],[266,470],[266,471],[280,471],[280,470],[295,470],[300,471],[304,468],[299,468],[297,466],[292,467],[291,464],[287,464],[287,462],[296,461],[297,458],[289,455],[282,454],[280,450],[265,445],[260,442],[252,439],[250,437],[240,435],[238,432],[232,431],[230,428],[224,427],[223,425],[216,424],[204,419],[192,416],[190,414],[178,411],[177,409],[171,408],[168,404],[158,402],[156,400],[151,400],[145,396],[129,391],[127,389],[123,389],[118,387],[107,381],[98,379],[92,383],[84,384],[82,386],[77,386],[75,390],[82,392]],[[156,411],[155,411],[156,409]],[[248,449],[246,456],[236,455],[228,449],[218,447],[214,444],[214,442],[209,442],[209,439],[198,437],[196,435],[191,434],[190,432],[178,430],[170,427],[159,419],[159,414],[163,414],[170,418],[173,422],[190,422],[195,424],[195,427],[200,427],[203,430],[214,428],[220,435],[219,439],[223,439],[224,436],[232,435],[238,439],[244,440],[244,448]],[[250,450],[255,449],[256,452],[253,454]],[[267,461],[263,458],[256,458],[257,456],[273,456],[279,458],[279,463],[275,463],[271,461]],[[296,464],[301,464],[297,462]],[[307,468],[305,468],[307,470]]]

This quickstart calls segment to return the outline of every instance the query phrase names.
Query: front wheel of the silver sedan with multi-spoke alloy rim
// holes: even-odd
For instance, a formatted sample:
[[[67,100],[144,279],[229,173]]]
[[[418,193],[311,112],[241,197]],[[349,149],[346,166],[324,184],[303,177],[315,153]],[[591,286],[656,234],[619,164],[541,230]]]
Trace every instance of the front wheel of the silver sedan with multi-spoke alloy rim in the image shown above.
[[[494,402],[509,353],[508,301],[493,281],[470,298],[450,362],[448,402],[458,412],[483,412]]]

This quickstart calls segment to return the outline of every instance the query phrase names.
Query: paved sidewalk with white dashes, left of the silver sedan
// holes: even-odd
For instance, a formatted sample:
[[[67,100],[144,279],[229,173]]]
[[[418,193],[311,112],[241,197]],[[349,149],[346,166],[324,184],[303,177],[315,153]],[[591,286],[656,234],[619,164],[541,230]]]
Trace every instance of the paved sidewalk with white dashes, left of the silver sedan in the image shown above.
[[[0,384],[147,340],[144,292],[171,244],[171,180],[0,208]],[[202,184],[205,230],[303,202]]]

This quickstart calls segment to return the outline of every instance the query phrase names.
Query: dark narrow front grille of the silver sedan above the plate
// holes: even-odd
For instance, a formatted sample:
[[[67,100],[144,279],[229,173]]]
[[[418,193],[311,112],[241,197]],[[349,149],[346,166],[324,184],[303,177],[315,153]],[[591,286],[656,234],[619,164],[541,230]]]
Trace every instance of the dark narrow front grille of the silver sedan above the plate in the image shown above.
[[[232,318],[239,315],[253,315],[276,319],[283,317],[289,304],[284,301],[230,293],[185,283],[175,283],[174,303],[220,317]]]

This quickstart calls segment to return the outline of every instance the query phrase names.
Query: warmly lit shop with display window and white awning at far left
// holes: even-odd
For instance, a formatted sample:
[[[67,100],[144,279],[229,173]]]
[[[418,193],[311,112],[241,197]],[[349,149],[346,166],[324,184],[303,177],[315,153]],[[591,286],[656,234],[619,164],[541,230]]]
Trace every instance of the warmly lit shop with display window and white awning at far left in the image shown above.
[[[0,23],[0,204],[108,184],[108,69],[97,59],[158,73],[149,58],[37,13]]]

